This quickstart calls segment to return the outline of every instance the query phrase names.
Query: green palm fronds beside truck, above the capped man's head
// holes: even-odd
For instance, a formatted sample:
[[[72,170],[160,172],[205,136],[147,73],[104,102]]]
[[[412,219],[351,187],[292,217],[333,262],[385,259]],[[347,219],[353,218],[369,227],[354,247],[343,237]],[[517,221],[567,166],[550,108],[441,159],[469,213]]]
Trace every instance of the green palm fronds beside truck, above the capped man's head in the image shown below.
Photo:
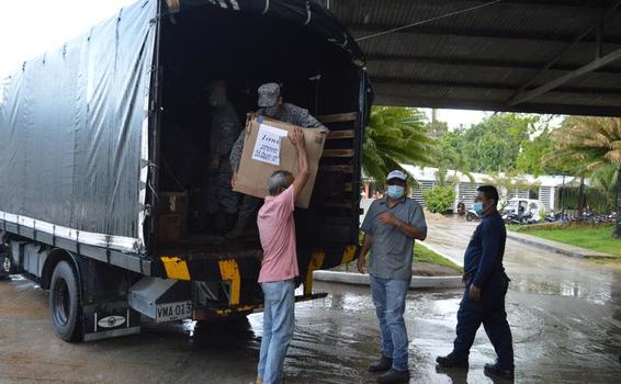
[[[403,165],[428,166],[434,156],[436,140],[429,137],[425,114],[417,109],[373,106],[365,131],[362,168],[366,177],[384,185],[386,174]]]

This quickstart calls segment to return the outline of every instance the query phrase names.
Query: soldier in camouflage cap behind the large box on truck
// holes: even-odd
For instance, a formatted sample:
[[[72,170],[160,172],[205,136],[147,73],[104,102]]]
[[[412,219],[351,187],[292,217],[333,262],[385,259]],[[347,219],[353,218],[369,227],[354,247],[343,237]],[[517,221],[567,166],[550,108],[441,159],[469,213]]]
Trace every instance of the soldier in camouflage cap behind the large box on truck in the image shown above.
[[[305,128],[324,127],[324,125],[319,123],[317,118],[313,117],[310,113],[308,113],[308,110],[294,104],[283,103],[280,92],[280,86],[275,82],[264,83],[259,87],[258,104],[260,109],[257,111],[257,114]],[[237,182],[237,171],[239,170],[241,153],[244,151],[245,136],[246,129],[241,131],[241,134],[235,142],[235,145],[233,146],[233,149],[230,151],[230,166],[233,168],[233,178],[230,180],[230,183],[233,187],[235,187],[235,183]],[[255,211],[257,210],[259,204],[261,204],[260,199],[250,195],[244,195],[235,228],[229,231],[226,237],[230,239],[241,237],[241,235],[244,235],[244,229],[246,229],[248,222],[255,214]]]

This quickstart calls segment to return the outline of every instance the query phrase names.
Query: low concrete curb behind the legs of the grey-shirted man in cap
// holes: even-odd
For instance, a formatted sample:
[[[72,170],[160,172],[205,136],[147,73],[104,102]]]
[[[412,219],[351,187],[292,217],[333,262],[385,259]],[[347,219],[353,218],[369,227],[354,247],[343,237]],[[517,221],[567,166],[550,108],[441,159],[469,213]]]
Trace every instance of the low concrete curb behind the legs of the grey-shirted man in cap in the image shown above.
[[[314,280],[352,285],[369,285],[369,274],[337,271],[315,271]],[[410,289],[458,289],[463,287],[462,276],[413,276]]]

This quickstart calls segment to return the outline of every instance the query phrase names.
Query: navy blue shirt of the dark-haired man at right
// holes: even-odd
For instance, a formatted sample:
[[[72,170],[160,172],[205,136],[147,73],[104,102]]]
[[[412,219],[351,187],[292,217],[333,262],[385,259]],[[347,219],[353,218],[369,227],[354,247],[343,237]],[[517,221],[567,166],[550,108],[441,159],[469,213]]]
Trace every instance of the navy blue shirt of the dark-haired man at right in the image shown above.
[[[473,284],[483,287],[505,276],[503,257],[507,229],[498,213],[483,216],[464,255],[464,271]]]

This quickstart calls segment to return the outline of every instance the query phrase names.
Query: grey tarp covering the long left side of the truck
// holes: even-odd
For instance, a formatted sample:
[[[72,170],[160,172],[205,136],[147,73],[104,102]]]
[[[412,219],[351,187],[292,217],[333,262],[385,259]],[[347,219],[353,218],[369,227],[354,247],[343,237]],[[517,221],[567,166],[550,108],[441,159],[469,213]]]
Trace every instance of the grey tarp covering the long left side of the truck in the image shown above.
[[[37,228],[47,223],[84,231],[81,238],[113,235],[132,240],[126,248],[142,245],[140,157],[148,158],[143,136],[157,4],[121,10],[7,81],[0,219],[20,215]]]

